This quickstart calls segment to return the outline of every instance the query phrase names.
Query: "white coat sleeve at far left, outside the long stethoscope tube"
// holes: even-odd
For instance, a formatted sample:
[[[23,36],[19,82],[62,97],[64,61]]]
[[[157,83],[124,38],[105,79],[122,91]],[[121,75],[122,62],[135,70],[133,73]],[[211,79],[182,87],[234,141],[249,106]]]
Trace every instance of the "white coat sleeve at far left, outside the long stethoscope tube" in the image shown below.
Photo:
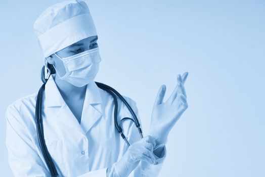
[[[6,111],[6,125],[8,161],[14,176],[50,176],[36,152],[19,110],[14,106],[9,106]]]

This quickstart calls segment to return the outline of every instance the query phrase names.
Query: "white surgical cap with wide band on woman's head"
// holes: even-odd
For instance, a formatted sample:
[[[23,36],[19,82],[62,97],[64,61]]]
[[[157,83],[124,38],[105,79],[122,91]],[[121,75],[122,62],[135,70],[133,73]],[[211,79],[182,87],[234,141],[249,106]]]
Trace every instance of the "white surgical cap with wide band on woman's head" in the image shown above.
[[[81,0],[65,1],[49,7],[40,14],[33,28],[45,58],[79,40],[97,35],[89,7]],[[46,59],[44,65],[48,69]]]

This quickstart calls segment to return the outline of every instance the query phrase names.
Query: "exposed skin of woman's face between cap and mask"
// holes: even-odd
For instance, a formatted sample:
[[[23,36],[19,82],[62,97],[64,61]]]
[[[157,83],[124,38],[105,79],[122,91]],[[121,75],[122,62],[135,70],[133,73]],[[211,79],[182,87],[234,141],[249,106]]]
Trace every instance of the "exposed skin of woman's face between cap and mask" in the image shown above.
[[[91,36],[79,40],[78,42],[73,43],[72,45],[56,52],[60,58],[70,57],[72,55],[79,54],[81,52],[91,50],[98,47],[98,36]],[[56,55],[51,55],[47,58],[48,63],[53,64],[56,67],[56,70],[60,76],[64,76],[66,73],[64,63]]]

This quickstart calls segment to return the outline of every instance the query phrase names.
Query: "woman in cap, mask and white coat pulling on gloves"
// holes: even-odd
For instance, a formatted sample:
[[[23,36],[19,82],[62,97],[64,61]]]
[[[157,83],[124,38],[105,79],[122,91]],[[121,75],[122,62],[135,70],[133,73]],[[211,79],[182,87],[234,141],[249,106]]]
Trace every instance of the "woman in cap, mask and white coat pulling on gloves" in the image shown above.
[[[188,108],[188,73],[178,74],[166,102],[161,85],[148,136],[142,139],[134,122],[122,122],[128,147],[115,129],[113,97],[94,81],[101,57],[87,5],[76,0],[51,6],[35,21],[34,31],[44,55],[43,134],[59,176],[158,176],[169,131]],[[25,96],[6,111],[6,145],[15,176],[51,176],[36,134],[36,97],[37,92]],[[139,118],[135,101],[123,97]],[[131,117],[120,99],[117,117],[118,122]]]

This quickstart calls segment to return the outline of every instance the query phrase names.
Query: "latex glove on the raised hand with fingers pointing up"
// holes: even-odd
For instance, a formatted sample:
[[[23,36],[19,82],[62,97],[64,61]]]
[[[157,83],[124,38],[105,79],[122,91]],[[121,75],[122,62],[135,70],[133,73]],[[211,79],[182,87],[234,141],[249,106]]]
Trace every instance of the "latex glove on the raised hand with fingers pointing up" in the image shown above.
[[[153,106],[149,129],[149,135],[155,138],[157,145],[154,150],[166,144],[169,131],[188,108],[187,95],[184,88],[187,76],[188,72],[185,72],[183,76],[178,74],[177,85],[165,103],[163,103],[163,99],[166,86],[164,84],[160,86]]]

